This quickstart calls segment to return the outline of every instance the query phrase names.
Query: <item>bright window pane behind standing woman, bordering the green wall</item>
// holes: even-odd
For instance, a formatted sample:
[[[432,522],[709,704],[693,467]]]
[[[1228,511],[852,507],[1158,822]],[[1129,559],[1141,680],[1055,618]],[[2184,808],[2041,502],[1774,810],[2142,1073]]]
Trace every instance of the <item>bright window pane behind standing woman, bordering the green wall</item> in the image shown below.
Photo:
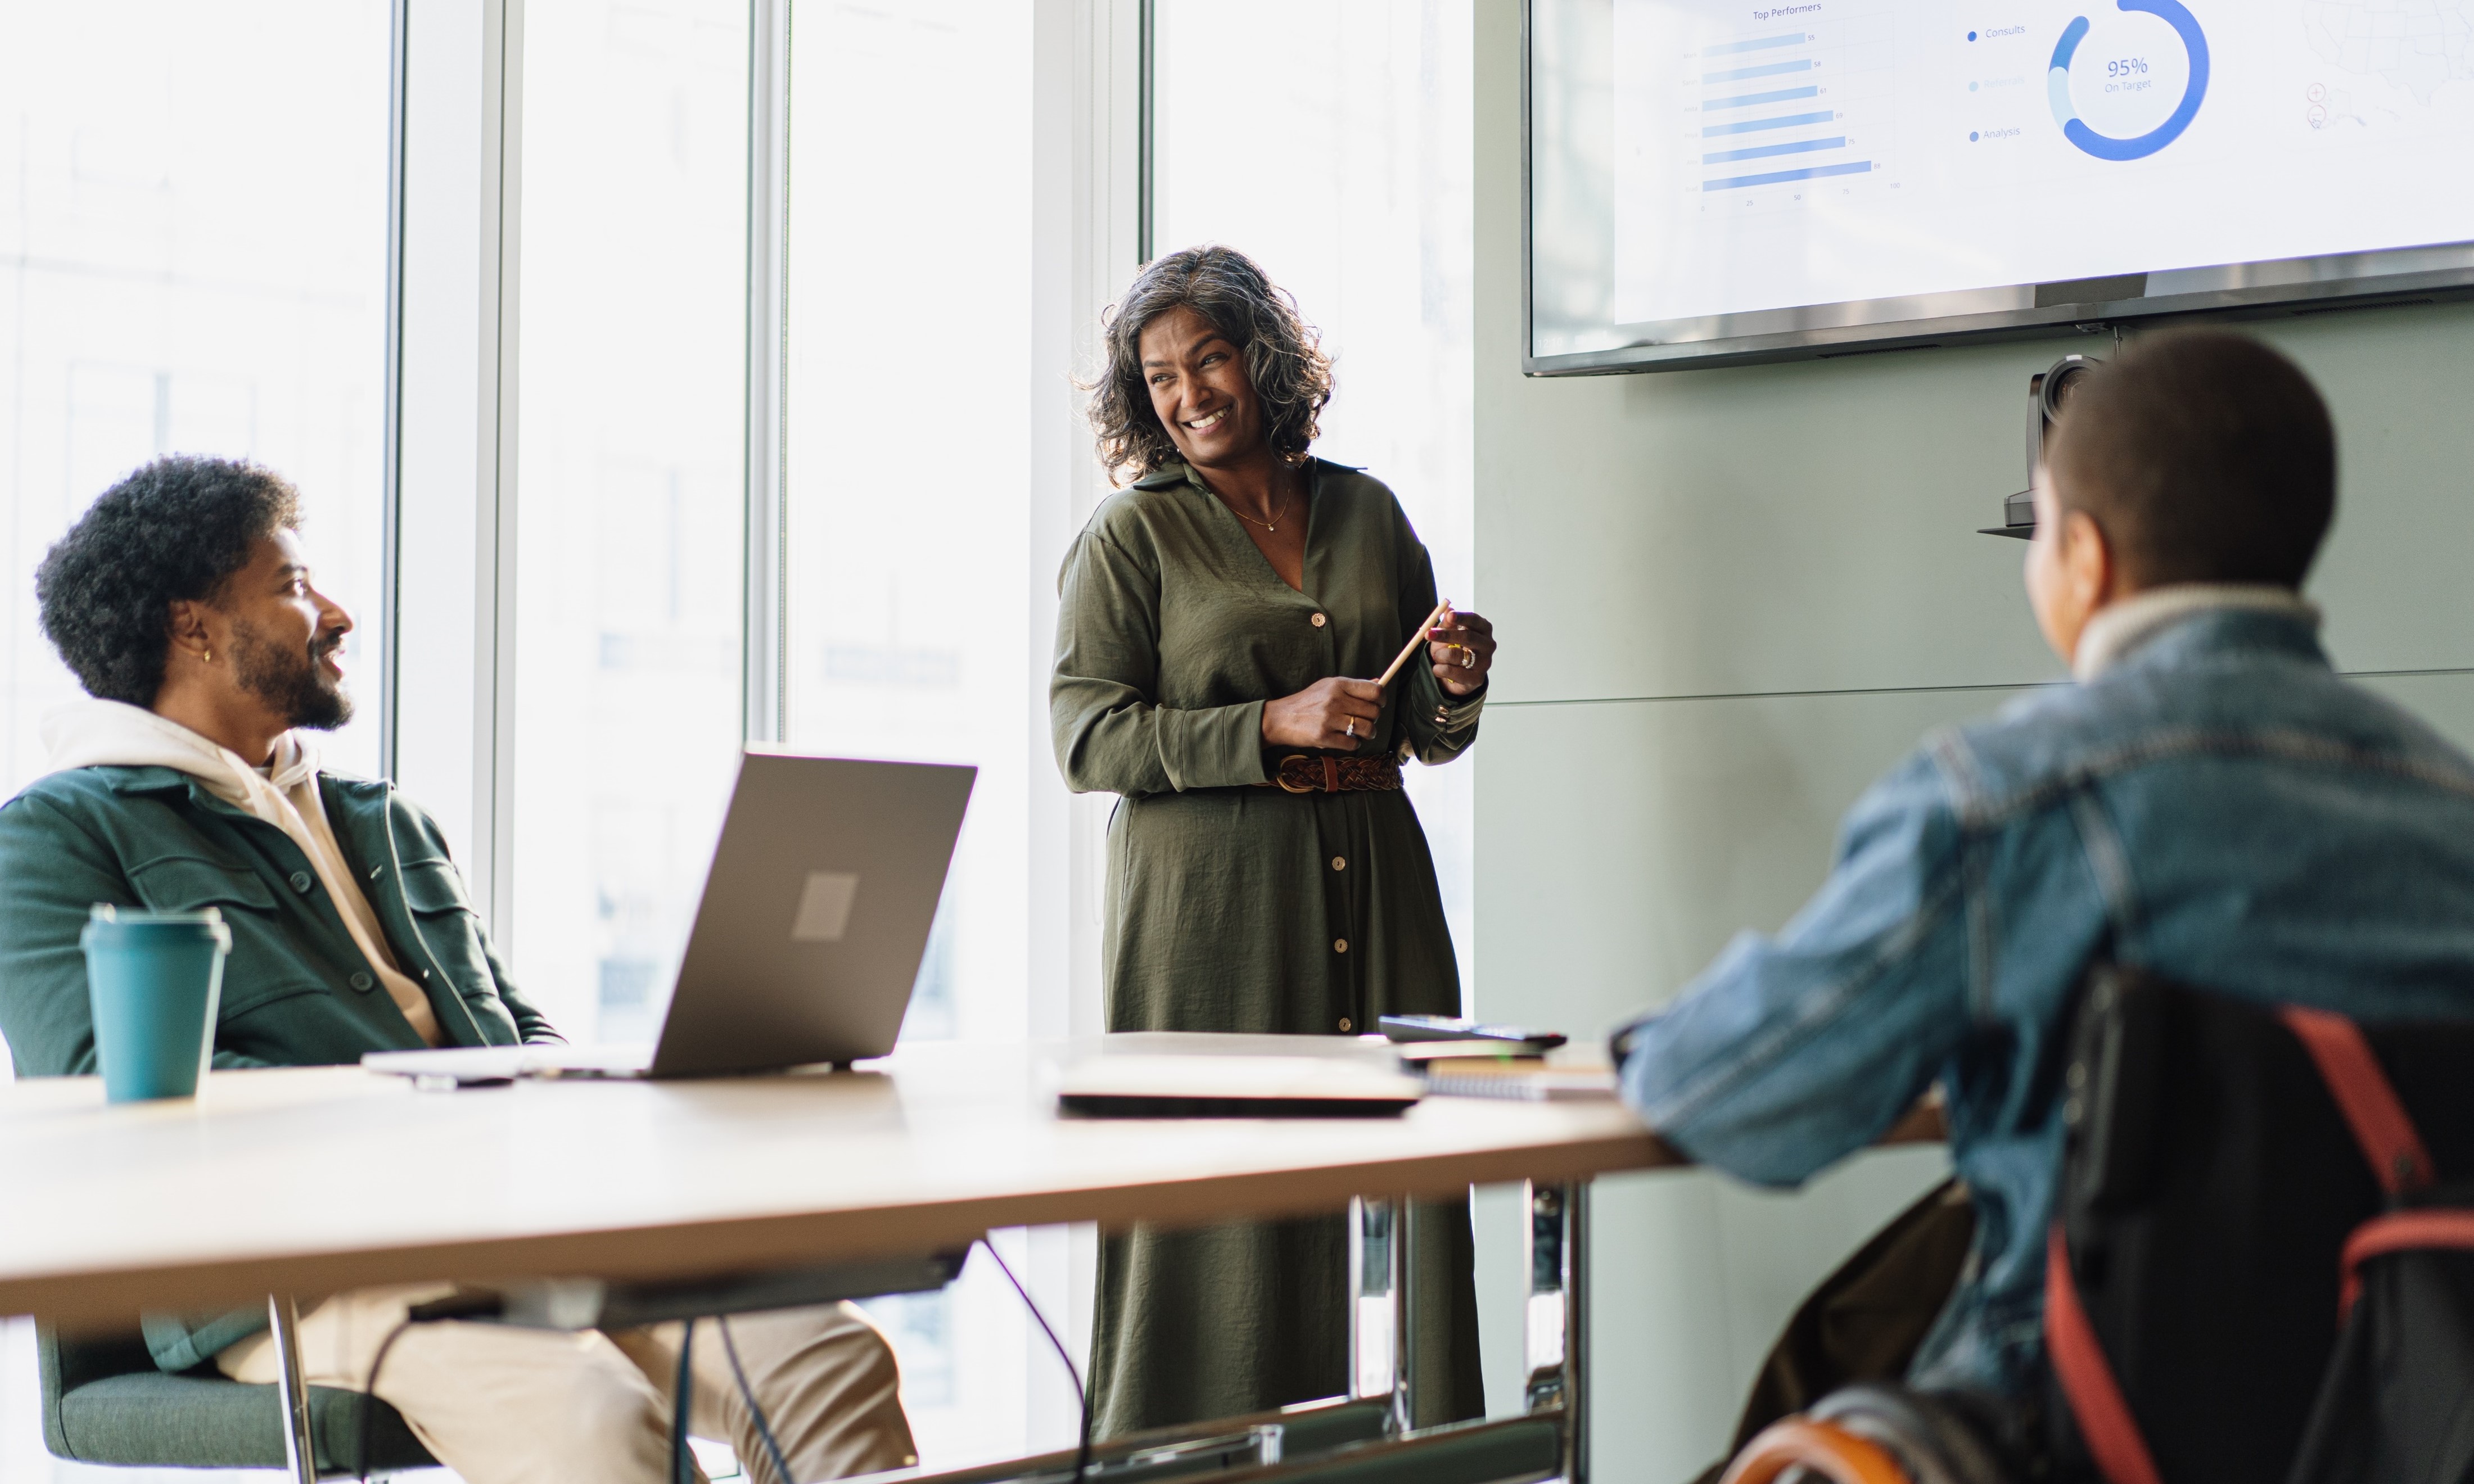
[[[1153,250],[1222,242],[1296,294],[1336,364],[1316,453],[1390,485],[1475,606],[1470,0],[1155,5]],[[1408,769],[1462,984],[1470,784]]]

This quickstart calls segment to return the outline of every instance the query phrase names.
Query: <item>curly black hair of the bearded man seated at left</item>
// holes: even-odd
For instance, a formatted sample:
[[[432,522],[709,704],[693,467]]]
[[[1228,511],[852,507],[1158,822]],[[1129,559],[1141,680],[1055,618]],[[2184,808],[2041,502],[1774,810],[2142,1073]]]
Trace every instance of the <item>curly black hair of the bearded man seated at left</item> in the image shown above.
[[[35,569],[42,633],[87,695],[151,707],[171,606],[213,601],[260,537],[299,524],[299,492],[267,467],[158,458],[104,490]]]

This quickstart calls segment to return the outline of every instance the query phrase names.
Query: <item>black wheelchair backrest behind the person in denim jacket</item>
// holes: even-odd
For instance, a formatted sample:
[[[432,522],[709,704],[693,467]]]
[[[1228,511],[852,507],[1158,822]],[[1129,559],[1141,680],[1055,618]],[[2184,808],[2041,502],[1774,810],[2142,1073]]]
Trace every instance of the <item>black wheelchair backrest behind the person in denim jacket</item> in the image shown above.
[[[2474,1019],[2363,1031],[2439,1175],[2474,1175]],[[2284,1479],[2345,1237],[2382,1209],[2311,1054],[2276,1007],[2105,967],[2063,1096],[2068,1274],[2157,1474]],[[2056,1477],[2093,1477],[2061,1395],[2048,1417]]]

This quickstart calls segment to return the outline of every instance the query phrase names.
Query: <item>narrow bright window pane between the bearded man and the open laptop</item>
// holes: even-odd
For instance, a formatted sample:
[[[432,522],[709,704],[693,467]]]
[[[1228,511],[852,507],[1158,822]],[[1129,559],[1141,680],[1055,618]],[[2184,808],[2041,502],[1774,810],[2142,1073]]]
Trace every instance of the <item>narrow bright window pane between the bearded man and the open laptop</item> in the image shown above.
[[[742,737],[747,5],[529,0],[522,59],[502,935],[651,1041]]]

